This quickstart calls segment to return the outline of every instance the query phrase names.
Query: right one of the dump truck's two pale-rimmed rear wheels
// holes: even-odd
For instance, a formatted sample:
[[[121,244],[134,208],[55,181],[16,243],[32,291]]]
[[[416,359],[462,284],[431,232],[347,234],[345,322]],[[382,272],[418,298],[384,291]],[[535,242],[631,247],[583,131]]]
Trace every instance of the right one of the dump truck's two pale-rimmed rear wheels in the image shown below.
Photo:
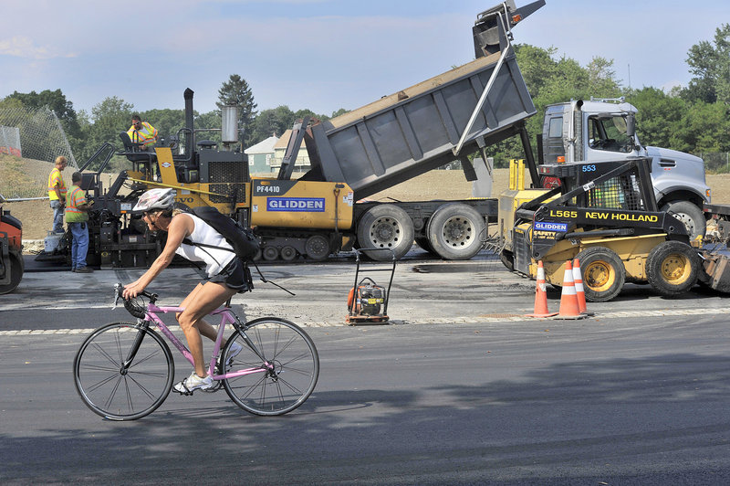
[[[485,218],[461,203],[436,209],[426,227],[431,248],[442,259],[471,259],[482,249],[484,231]]]

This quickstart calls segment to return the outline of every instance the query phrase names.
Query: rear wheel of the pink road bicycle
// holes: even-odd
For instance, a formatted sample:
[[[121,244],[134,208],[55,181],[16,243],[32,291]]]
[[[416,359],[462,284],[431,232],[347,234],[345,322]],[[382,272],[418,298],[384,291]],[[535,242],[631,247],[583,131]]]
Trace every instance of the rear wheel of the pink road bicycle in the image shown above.
[[[234,343],[243,350],[230,358]],[[262,370],[223,382],[235,404],[255,415],[283,415],[299,407],[319,376],[319,355],[308,334],[294,322],[272,317],[247,322],[234,333],[225,345],[223,363],[229,364],[228,373]]]

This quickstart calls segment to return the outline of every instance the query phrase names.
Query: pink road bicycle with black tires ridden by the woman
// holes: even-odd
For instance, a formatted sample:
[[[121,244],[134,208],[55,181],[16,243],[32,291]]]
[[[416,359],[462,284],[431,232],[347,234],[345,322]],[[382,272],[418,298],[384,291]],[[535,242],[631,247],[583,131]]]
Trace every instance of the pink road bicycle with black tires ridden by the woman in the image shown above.
[[[121,284],[114,289],[116,307]],[[144,299],[149,300],[146,305]],[[137,322],[103,325],[78,349],[73,365],[76,390],[87,407],[101,417],[145,417],[170,395],[174,360],[170,346],[151,329],[152,324],[193,365],[190,351],[157,315],[183,312],[183,308],[158,307],[157,300],[157,294],[143,291],[137,299],[124,301],[124,308]],[[286,414],[312,394],[319,376],[319,355],[314,342],[297,324],[277,317],[241,322],[230,301],[208,315],[220,315],[221,323],[208,366],[214,386],[203,391],[216,392],[223,387],[238,407],[260,416]],[[232,324],[235,331],[221,350],[226,324]],[[236,342],[244,349],[230,357]]]

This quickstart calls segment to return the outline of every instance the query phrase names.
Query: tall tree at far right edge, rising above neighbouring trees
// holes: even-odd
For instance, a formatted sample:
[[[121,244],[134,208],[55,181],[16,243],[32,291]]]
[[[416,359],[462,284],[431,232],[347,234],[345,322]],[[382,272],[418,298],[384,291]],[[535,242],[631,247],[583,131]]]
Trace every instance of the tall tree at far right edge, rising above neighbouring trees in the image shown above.
[[[703,40],[690,48],[687,64],[694,78],[683,90],[686,99],[730,104],[730,24],[715,29],[714,45]]]

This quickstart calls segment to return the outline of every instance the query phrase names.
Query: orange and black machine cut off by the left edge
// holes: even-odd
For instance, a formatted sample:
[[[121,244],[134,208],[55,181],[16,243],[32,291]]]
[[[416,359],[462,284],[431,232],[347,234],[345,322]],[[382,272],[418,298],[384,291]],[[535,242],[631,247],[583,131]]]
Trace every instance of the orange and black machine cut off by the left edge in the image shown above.
[[[2,204],[0,195],[0,294],[15,291],[23,280],[23,225]]]

